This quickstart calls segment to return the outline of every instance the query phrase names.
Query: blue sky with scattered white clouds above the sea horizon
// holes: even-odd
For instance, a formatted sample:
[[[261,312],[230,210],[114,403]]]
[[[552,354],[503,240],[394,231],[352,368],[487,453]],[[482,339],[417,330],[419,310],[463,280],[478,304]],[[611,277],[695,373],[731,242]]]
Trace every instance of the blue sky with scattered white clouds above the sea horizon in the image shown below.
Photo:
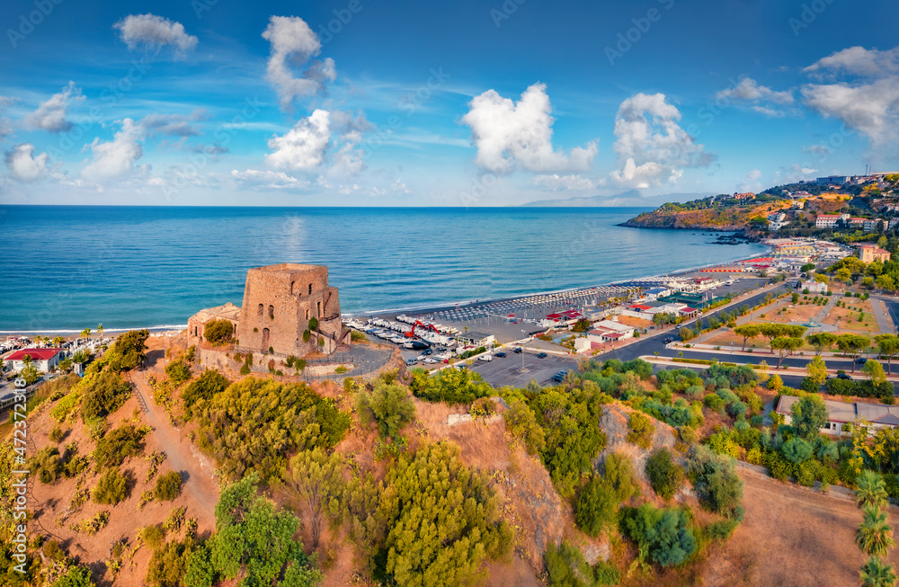
[[[895,171],[899,37],[877,23],[897,19],[886,0],[4,0],[0,204],[641,206]]]

